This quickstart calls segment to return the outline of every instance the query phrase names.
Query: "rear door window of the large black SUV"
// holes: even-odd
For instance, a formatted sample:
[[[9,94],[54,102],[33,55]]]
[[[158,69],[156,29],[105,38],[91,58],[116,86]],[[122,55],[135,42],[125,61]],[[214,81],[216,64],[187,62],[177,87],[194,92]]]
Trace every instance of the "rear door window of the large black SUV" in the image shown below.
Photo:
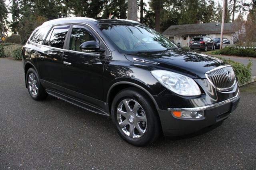
[[[54,26],[52,28],[52,31],[48,34],[44,45],[49,45],[56,48],[63,48],[69,27],[70,25]]]

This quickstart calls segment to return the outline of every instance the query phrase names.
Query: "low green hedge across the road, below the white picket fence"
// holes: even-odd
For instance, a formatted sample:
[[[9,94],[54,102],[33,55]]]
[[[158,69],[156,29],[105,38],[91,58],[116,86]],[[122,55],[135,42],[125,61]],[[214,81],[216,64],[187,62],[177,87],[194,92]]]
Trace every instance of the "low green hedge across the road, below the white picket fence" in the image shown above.
[[[256,57],[256,49],[253,48],[234,48],[234,47],[225,47],[220,50],[212,51],[212,54],[217,55],[236,55],[236,56],[242,56],[242,57]]]

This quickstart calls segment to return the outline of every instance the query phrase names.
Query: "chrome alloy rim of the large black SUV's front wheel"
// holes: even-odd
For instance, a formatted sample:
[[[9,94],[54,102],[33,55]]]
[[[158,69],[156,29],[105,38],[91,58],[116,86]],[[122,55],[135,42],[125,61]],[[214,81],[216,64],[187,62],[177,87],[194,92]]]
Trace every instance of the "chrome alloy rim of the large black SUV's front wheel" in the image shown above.
[[[140,138],[145,134],[147,129],[146,114],[135,100],[122,100],[117,107],[116,116],[119,126],[127,136]]]

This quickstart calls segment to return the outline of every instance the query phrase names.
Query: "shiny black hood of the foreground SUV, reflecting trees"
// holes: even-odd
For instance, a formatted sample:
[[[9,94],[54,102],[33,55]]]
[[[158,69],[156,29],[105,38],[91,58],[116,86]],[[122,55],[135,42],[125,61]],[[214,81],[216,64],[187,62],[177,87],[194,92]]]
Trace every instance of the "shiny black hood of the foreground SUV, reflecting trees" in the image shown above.
[[[159,63],[154,65],[155,69],[174,71],[194,79],[206,78],[205,73],[207,71],[225,64],[222,60],[206,55],[204,53],[185,51],[184,49],[178,48],[170,49],[167,51],[125,54],[125,56],[129,61],[140,65],[143,64],[143,62],[134,61],[134,57],[137,59],[154,61]],[[151,66],[153,65],[149,63],[144,64]]]

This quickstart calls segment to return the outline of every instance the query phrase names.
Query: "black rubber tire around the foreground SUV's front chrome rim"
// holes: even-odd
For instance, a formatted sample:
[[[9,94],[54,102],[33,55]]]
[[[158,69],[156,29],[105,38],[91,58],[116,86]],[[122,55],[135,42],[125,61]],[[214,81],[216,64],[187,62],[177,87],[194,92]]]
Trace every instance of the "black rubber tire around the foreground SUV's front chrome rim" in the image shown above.
[[[122,102],[125,99],[132,99],[138,102],[138,104],[140,104],[140,106],[144,110],[143,113],[146,115],[146,129],[143,136],[139,138],[133,138],[128,136],[128,134],[125,134],[118,123],[118,118],[117,118],[118,105],[120,104],[120,102]],[[136,89],[132,87],[132,88],[127,88],[120,91],[113,99],[113,102],[111,105],[111,116],[118,134],[126,142],[132,145],[144,146],[144,145],[150,144],[154,142],[158,138],[159,134],[161,133],[160,120],[159,120],[156,108],[154,107],[154,103],[151,101],[148,95],[146,95],[146,93],[144,93],[140,89]]]

